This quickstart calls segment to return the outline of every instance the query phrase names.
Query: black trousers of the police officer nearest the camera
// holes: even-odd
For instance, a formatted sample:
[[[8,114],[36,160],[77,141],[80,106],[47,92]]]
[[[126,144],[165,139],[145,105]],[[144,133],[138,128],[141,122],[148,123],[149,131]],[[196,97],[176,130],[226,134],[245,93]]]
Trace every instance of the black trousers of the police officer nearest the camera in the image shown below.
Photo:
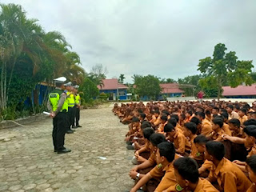
[[[64,141],[66,134],[66,112],[59,112],[53,119],[53,142],[54,150],[64,150]]]

